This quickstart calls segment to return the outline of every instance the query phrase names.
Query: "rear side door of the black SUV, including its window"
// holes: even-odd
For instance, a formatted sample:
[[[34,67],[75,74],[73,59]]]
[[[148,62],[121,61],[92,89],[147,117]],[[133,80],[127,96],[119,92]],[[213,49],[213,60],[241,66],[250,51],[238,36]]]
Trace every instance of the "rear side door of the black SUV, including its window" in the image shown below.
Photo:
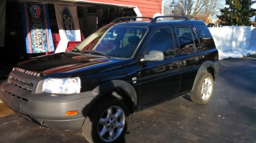
[[[189,92],[204,55],[193,25],[175,26],[181,62],[181,83],[179,94]]]

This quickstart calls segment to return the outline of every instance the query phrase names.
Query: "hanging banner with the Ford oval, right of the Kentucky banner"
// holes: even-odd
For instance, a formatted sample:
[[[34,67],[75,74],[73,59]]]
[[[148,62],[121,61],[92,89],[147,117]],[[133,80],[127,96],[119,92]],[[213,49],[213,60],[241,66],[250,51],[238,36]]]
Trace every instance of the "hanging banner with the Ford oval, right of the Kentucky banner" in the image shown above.
[[[56,52],[66,50],[68,41],[81,41],[76,6],[54,5],[60,41]]]

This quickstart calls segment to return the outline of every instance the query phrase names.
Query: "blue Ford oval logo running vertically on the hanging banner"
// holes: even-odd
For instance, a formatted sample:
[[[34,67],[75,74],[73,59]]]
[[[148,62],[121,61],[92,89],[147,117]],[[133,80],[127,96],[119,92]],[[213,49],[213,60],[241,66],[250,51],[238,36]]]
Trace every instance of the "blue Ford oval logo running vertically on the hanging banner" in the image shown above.
[[[72,15],[67,7],[62,12],[62,26],[69,41],[76,41],[75,24]]]

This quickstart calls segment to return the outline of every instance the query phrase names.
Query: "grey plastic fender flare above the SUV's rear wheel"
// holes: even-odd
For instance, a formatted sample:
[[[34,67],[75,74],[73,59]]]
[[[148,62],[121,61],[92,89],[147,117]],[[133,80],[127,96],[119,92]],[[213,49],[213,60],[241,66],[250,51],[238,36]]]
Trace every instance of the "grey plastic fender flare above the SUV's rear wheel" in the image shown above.
[[[204,62],[204,63],[200,66],[200,68],[199,68],[199,70],[198,70],[198,72],[197,72],[197,75],[196,75],[196,78],[195,78],[195,81],[194,81],[193,88],[192,88],[191,92],[195,90],[196,85],[197,85],[197,82],[199,81],[199,78],[201,77],[202,73],[204,73],[205,70],[206,70],[207,68],[209,68],[209,67],[214,67],[214,62],[206,61],[206,62]],[[214,71],[214,72],[215,72],[215,71]]]

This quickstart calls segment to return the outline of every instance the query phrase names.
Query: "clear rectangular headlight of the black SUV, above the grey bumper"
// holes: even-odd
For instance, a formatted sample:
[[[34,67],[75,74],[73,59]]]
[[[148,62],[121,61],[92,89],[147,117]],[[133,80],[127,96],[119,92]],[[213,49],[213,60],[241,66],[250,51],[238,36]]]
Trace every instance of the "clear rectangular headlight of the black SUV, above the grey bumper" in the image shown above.
[[[80,93],[81,80],[75,78],[47,78],[42,84],[42,92],[56,94]]]

